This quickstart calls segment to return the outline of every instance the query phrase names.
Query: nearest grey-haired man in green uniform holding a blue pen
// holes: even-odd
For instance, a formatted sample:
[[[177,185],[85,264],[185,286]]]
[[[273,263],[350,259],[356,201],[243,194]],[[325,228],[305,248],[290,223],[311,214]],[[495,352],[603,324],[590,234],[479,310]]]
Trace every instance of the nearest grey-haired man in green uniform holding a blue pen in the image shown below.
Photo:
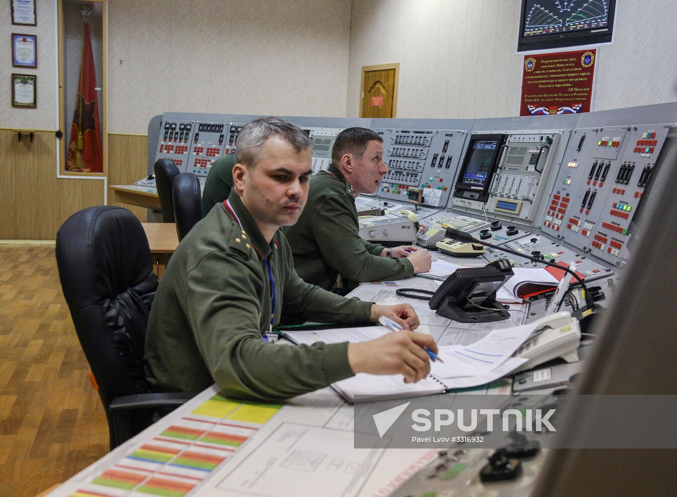
[[[146,374],[162,391],[216,383],[231,397],[278,400],[358,372],[403,374],[415,382],[437,351],[427,334],[401,330],[365,343],[278,346],[265,332],[282,316],[339,323],[389,316],[410,328],[408,304],[347,299],[303,282],[280,226],[307,200],[311,155],[299,127],[261,118],[242,128],[234,188],[197,223],[172,255],[146,334]]]

